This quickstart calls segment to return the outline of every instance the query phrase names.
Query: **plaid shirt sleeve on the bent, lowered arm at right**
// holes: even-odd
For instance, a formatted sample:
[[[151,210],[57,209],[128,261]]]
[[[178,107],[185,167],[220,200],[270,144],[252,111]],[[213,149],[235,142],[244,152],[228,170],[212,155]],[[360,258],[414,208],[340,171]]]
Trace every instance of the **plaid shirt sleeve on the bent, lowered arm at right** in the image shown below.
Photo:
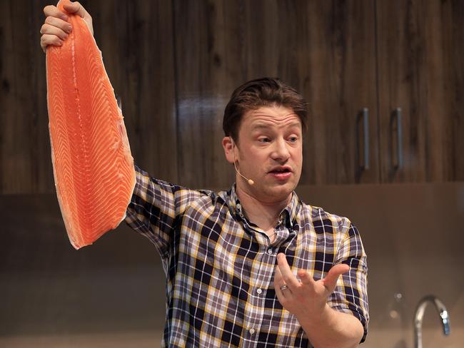
[[[368,334],[369,322],[367,255],[358,230],[350,222],[343,238],[334,265],[344,263],[350,266],[350,270],[339,278],[335,290],[328,297],[328,305],[340,312],[353,314],[360,320],[364,328],[362,343]]]

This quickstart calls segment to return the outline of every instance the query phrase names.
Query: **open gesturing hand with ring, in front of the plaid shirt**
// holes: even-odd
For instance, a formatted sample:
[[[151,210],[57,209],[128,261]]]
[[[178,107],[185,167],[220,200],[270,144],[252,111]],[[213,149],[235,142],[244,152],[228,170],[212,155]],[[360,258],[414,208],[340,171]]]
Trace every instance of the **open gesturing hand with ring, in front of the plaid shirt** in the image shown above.
[[[335,265],[324,279],[318,281],[313,280],[306,270],[298,270],[297,275],[301,279],[299,282],[282,252],[277,255],[277,263],[274,275],[277,298],[281,305],[297,318],[322,314],[327,297],[335,289],[338,277],[350,270],[348,265]],[[283,285],[287,287],[281,290]]]

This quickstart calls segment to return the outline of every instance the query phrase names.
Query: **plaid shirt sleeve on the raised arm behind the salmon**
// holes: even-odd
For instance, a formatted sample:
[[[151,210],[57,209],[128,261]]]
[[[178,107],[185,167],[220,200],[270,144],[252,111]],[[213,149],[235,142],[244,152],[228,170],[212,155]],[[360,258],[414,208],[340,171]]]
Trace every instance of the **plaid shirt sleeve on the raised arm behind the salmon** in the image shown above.
[[[202,191],[183,188],[151,178],[135,165],[136,186],[126,210],[126,223],[153,242],[161,257],[167,257],[179,217]]]

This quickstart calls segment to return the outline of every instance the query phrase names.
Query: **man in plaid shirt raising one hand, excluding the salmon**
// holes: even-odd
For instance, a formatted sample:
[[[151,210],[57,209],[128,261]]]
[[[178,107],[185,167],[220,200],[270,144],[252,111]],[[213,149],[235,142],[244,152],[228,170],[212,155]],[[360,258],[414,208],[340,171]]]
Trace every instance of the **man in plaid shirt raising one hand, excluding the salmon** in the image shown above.
[[[79,4],[65,7],[91,17]],[[44,8],[41,46],[70,32]],[[93,31],[92,31],[93,32]],[[126,222],[160,252],[168,347],[356,347],[368,325],[367,265],[346,218],[298,200],[306,103],[275,78],[248,81],[224,112],[230,190],[190,190],[136,167]]]

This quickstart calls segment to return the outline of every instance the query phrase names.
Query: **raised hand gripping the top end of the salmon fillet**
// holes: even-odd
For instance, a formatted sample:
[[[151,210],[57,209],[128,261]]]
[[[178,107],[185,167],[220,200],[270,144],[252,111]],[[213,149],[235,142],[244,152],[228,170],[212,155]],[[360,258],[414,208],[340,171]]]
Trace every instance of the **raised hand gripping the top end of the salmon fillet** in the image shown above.
[[[89,26],[92,35],[94,35],[92,17],[78,1],[71,2],[67,0],[63,7],[69,14],[77,14],[81,16],[84,21],[86,21],[87,26]],[[59,11],[56,6],[45,6],[44,14],[46,19],[44,25],[42,25],[40,29],[40,34],[42,34],[40,38],[40,46],[45,52],[46,46],[48,45],[61,46],[63,41],[68,37],[68,34],[71,33],[72,28],[71,24],[68,23],[68,16]]]

